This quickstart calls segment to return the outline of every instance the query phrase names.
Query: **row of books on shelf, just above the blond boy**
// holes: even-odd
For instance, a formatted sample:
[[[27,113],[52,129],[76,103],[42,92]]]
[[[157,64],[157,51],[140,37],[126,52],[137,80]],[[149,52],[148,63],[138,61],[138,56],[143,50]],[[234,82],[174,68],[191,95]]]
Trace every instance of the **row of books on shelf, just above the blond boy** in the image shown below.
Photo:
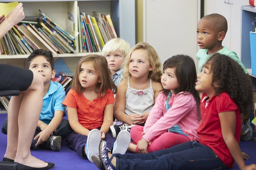
[[[79,11],[79,52],[101,52],[105,43],[117,38],[110,15],[93,12],[93,17]]]

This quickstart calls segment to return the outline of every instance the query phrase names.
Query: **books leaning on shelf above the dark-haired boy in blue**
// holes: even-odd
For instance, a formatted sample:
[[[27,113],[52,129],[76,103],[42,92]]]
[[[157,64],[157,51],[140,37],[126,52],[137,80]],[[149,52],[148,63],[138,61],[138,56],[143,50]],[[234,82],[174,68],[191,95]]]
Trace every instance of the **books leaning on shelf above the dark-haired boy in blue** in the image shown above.
[[[41,10],[40,17],[25,17],[3,37],[0,43],[0,54],[30,54],[35,49],[51,51],[53,55],[76,53],[75,38],[53,22]]]

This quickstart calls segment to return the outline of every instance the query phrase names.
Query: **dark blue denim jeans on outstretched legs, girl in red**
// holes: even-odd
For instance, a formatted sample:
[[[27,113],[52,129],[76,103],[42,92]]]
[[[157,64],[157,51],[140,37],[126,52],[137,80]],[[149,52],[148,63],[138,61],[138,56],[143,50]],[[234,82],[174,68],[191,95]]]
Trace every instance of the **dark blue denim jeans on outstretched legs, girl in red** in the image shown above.
[[[192,148],[190,149],[164,154],[163,156],[158,156],[151,160],[119,158],[116,159],[116,161],[118,165],[116,169],[118,170],[226,169],[221,159],[219,159],[209,147],[199,144],[198,142],[192,142]]]

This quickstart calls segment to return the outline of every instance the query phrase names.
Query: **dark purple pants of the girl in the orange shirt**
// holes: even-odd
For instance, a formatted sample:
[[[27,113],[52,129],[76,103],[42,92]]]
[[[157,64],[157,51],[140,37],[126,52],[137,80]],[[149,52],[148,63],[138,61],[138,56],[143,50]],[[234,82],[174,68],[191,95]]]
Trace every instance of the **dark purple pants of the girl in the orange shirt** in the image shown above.
[[[70,149],[75,150],[79,154],[79,156],[81,156],[82,158],[87,159],[87,156],[83,155],[84,145],[87,142],[87,136],[80,135],[76,132],[71,132],[70,134],[67,135],[65,140],[67,142],[67,146]],[[105,134],[105,139],[104,140],[107,142],[108,148],[112,150],[114,142],[116,141],[116,139],[114,139],[113,136],[110,133],[107,133],[107,134]]]

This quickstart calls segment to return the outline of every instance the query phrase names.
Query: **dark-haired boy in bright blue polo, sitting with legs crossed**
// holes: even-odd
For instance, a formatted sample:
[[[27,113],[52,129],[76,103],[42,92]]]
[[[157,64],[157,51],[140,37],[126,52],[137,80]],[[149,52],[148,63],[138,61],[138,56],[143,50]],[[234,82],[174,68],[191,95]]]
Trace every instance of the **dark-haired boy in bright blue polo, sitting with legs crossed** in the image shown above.
[[[33,51],[26,59],[26,68],[34,73],[41,73],[44,79],[43,106],[31,148],[36,150],[40,144],[59,151],[61,139],[64,139],[72,129],[69,122],[63,119],[66,116],[65,106],[62,105],[65,91],[60,83],[51,81],[55,77],[52,53],[43,49]],[[2,125],[4,134],[7,134],[7,120],[6,117]]]

